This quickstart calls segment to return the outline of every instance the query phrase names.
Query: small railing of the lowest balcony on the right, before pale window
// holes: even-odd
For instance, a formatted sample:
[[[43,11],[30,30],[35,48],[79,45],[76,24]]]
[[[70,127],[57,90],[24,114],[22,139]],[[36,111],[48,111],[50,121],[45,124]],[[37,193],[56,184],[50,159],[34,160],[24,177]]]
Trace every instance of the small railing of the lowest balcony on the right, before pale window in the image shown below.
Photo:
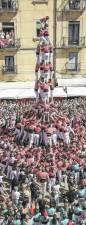
[[[79,72],[80,71],[80,63],[66,63],[65,65],[66,72]]]

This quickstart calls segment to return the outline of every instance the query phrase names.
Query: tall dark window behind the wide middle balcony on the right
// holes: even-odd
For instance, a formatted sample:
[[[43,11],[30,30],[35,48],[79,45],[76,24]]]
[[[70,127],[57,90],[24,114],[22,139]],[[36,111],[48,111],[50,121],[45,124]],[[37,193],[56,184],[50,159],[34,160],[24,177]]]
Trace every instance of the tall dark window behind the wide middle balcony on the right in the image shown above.
[[[69,45],[79,45],[80,22],[70,21],[68,28]]]

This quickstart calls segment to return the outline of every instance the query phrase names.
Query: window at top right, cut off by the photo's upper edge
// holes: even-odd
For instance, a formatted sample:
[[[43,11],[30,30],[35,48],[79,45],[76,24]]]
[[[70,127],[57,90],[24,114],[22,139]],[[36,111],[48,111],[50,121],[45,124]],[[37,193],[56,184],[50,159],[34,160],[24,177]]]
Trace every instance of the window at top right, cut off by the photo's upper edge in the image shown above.
[[[80,9],[80,0],[69,0],[70,9]]]

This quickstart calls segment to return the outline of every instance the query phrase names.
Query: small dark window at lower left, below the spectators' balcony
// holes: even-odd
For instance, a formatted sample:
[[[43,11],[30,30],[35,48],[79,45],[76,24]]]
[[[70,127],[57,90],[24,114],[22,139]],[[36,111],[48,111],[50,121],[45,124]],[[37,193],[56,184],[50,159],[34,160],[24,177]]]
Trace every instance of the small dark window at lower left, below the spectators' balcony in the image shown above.
[[[5,56],[5,72],[15,72],[14,56]]]

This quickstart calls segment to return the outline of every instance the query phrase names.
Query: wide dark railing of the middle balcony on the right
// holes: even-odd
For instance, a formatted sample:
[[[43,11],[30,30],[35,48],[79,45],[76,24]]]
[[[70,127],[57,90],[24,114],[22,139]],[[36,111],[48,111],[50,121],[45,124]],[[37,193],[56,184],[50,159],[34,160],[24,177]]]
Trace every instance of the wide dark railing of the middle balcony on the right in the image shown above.
[[[62,37],[61,39],[61,48],[84,48],[85,47],[85,37],[80,37],[77,40],[74,40],[74,38],[68,38],[68,37]]]

